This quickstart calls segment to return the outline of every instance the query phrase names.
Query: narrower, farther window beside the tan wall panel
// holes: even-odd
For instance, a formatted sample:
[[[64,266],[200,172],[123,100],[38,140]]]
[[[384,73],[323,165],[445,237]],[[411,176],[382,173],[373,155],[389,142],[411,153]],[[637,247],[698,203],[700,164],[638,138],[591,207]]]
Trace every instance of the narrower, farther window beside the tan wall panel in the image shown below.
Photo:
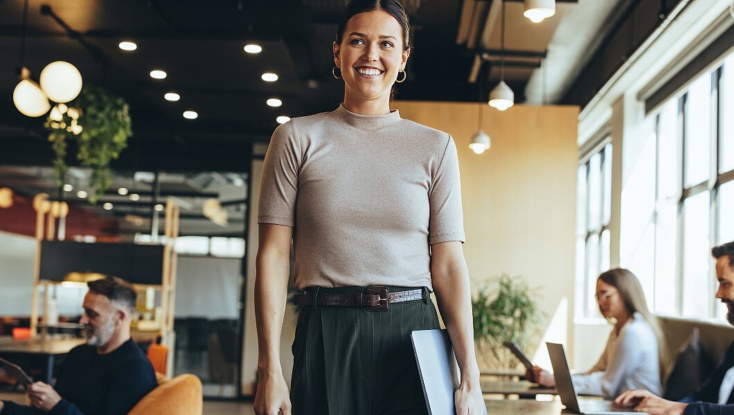
[[[583,310],[579,317],[594,317],[596,279],[610,262],[611,144],[578,167],[577,194],[575,309]]]

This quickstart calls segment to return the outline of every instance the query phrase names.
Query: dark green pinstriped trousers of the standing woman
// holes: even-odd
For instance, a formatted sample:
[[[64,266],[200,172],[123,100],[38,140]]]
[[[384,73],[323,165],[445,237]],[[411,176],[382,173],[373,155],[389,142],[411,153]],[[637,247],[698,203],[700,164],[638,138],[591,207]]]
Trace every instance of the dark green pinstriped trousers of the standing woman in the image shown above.
[[[390,292],[409,289],[390,287]],[[319,289],[364,292],[363,287]],[[430,328],[440,328],[430,300],[390,304],[385,312],[301,306],[293,342],[293,414],[427,414],[410,333]]]

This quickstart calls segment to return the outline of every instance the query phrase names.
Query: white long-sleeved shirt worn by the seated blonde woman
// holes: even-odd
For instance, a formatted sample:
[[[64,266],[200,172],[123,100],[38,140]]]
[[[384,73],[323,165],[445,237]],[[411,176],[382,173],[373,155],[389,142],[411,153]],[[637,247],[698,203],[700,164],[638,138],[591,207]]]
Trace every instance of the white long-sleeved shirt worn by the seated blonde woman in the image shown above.
[[[612,330],[599,361],[589,372],[573,375],[578,394],[600,395],[614,399],[628,389],[647,389],[660,396],[658,339],[653,328],[639,313]]]

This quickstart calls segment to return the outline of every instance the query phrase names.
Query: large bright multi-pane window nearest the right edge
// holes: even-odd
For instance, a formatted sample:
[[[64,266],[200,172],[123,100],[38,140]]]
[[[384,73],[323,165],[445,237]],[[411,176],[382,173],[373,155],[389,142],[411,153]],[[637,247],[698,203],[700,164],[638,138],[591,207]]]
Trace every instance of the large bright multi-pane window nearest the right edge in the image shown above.
[[[711,246],[734,239],[734,55],[655,118],[655,312],[722,317]]]

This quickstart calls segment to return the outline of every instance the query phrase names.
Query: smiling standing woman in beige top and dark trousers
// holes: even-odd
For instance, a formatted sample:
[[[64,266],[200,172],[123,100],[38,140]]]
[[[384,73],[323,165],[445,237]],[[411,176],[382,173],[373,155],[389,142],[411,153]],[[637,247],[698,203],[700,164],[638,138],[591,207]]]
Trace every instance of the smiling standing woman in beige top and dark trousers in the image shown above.
[[[397,0],[350,1],[332,50],[344,102],[273,133],[258,213],[259,415],[426,414],[410,334],[440,327],[431,291],[461,371],[456,412],[484,411],[456,145],[390,110],[408,76],[408,29]],[[280,333],[291,241],[302,307],[289,395]]]

